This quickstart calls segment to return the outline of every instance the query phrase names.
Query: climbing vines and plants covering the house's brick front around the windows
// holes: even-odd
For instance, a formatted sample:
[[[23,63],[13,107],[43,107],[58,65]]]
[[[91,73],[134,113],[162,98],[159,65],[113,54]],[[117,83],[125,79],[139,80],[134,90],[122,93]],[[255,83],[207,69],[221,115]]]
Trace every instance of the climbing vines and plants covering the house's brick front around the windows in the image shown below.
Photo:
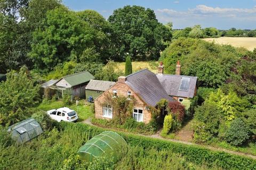
[[[133,106],[137,100],[132,96],[130,99],[127,97],[118,95],[113,97],[111,93],[106,94],[106,100],[101,103],[102,105],[110,105],[113,108],[113,119],[112,120],[102,120],[93,119],[92,123],[109,127],[109,128],[121,128],[129,130],[130,132],[139,132],[143,134],[155,133],[159,128],[159,123],[157,122],[161,111],[163,108],[167,108],[168,101],[162,99],[158,102],[157,107],[149,106],[149,111],[151,112],[151,121],[148,124],[143,122],[137,122],[133,119]],[[166,110],[167,111],[167,110]]]

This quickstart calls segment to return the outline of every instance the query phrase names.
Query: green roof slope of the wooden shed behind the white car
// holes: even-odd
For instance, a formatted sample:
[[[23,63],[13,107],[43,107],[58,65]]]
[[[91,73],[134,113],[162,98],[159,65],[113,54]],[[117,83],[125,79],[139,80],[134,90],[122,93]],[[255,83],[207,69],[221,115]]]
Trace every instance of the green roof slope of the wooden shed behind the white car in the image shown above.
[[[67,75],[63,77],[62,79],[65,79],[72,87],[76,86],[78,84],[82,84],[85,82],[90,81],[91,79],[95,79],[93,75],[87,71]]]

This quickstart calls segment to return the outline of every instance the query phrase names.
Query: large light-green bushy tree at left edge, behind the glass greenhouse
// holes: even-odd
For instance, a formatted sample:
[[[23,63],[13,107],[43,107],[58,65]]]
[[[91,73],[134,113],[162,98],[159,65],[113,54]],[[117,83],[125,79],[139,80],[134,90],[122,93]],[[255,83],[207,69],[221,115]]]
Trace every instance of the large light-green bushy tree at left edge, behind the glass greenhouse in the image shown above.
[[[28,116],[26,109],[38,100],[39,85],[34,82],[26,66],[7,73],[6,81],[0,83],[0,124],[14,124]]]

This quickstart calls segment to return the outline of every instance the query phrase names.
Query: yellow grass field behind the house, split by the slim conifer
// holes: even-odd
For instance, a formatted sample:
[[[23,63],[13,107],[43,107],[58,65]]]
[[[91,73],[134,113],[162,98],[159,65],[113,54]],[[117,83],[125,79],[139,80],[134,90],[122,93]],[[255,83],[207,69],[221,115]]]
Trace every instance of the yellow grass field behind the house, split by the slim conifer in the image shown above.
[[[132,71],[136,72],[142,69],[148,69],[153,73],[157,73],[157,65],[158,62],[132,62]],[[125,62],[117,62],[117,67],[124,72]]]

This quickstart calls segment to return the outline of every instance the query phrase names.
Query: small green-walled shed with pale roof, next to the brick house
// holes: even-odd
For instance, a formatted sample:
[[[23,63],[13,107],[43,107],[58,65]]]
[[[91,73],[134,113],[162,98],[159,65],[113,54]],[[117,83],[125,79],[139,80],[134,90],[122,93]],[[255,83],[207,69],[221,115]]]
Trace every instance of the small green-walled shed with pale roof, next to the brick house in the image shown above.
[[[97,98],[104,91],[112,87],[116,82],[113,81],[102,81],[102,80],[90,80],[85,87],[85,96],[89,98],[92,96],[93,99]]]

